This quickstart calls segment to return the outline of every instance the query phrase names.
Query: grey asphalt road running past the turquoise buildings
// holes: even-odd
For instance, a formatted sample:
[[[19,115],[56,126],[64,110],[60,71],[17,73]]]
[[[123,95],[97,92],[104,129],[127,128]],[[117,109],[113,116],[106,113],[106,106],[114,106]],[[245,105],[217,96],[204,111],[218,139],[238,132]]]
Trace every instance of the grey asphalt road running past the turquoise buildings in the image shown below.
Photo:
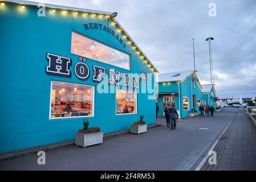
[[[237,114],[226,108],[214,117],[184,119],[175,130],[163,126],[147,133],[124,134],[104,139],[103,144],[81,148],[69,146],[46,152],[46,165],[38,156],[3,160],[1,170],[193,170]],[[207,128],[201,130],[198,128]]]

